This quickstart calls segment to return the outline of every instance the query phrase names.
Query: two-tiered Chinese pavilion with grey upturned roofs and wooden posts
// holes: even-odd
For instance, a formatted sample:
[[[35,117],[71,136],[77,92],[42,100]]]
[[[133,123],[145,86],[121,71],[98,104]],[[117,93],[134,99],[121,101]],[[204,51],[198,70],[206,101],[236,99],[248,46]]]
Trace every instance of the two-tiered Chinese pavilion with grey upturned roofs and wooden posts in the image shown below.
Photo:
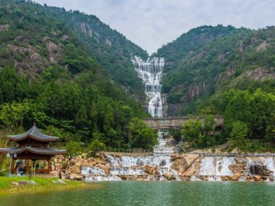
[[[21,135],[8,135],[8,141],[15,141],[16,147],[13,148],[0,148],[0,153],[10,154],[12,158],[10,172],[14,174],[14,161],[17,159],[26,160],[26,173],[30,172],[30,165],[32,161],[32,167],[37,160],[48,161],[48,168],[39,171],[38,173],[48,174],[50,172],[50,159],[54,155],[63,155],[65,150],[57,150],[50,148],[50,144],[57,141],[59,137],[52,137],[44,135],[34,126],[30,128],[26,133]],[[37,171],[36,171],[37,172]]]

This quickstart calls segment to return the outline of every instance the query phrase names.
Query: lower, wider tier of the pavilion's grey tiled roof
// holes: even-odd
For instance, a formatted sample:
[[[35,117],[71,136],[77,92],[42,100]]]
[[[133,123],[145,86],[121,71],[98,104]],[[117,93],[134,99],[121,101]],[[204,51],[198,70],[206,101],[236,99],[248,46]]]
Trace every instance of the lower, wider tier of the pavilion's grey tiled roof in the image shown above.
[[[16,147],[16,148],[0,148],[0,153],[14,153],[19,154],[21,152],[32,152],[39,155],[63,155],[66,150],[57,150],[52,148],[38,148],[38,147]]]

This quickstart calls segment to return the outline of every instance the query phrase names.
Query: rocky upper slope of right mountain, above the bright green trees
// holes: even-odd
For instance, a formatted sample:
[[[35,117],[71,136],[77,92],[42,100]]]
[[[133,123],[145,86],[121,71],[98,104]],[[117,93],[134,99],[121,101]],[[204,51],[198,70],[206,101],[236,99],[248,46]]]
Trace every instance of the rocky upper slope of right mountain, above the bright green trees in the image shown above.
[[[169,114],[200,113],[201,104],[212,104],[230,88],[244,90],[253,84],[272,91],[274,40],[274,27],[217,25],[194,28],[161,47],[157,55],[165,57],[162,84]]]

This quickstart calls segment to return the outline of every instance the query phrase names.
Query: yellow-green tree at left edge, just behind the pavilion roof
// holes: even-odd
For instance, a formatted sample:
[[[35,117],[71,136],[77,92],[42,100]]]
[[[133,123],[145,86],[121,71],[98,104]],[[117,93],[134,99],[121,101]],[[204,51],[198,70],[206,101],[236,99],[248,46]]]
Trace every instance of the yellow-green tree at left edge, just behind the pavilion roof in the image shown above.
[[[23,119],[28,113],[28,103],[6,103],[0,107],[0,119],[7,128],[8,133],[18,133],[23,125]]]

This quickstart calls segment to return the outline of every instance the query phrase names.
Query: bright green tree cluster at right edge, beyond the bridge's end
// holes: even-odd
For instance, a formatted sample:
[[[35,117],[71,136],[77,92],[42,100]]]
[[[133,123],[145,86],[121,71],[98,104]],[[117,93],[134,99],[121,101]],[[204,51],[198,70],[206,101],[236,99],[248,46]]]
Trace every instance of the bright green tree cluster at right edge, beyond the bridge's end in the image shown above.
[[[249,137],[265,138],[265,131],[270,127],[269,120],[274,115],[273,93],[266,93],[262,89],[256,89],[252,93],[230,90],[223,95],[222,104],[226,104],[225,132],[230,133],[232,123],[238,120],[247,124]]]

